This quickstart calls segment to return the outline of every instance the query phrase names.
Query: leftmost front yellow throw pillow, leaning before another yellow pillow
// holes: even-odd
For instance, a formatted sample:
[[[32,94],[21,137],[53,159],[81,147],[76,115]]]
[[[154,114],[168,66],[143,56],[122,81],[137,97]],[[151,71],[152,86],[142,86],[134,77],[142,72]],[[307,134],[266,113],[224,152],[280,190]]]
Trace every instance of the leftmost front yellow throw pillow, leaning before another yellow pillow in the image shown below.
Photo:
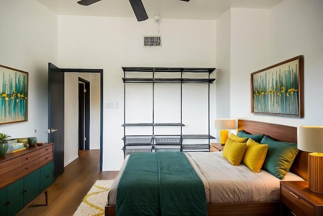
[[[227,158],[232,165],[238,166],[241,163],[247,144],[239,143],[231,138],[228,138],[224,146],[222,156]]]

